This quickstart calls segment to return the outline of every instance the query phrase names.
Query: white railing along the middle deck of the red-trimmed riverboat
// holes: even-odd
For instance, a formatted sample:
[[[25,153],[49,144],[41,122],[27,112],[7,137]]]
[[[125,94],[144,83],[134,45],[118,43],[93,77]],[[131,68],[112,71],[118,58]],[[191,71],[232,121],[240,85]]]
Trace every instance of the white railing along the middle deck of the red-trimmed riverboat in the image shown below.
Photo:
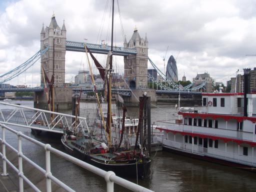
[[[162,125],[157,125],[158,128],[164,128],[168,130],[176,130],[181,132],[192,132],[192,133],[199,133],[211,136],[220,136],[225,138],[235,138],[239,140],[246,140],[246,141],[256,141],[256,135],[252,132],[246,131],[237,131],[237,130],[230,130],[230,129],[223,129],[223,128],[211,128],[211,127],[204,127],[204,126],[192,126],[186,124],[170,124],[162,122]]]

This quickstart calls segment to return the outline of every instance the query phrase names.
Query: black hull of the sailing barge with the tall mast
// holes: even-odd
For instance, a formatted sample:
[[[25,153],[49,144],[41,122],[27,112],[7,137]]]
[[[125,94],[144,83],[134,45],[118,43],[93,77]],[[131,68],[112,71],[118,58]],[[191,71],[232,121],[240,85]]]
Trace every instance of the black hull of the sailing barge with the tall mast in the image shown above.
[[[93,166],[96,166],[98,168],[101,168],[105,171],[113,171],[115,175],[121,176],[121,177],[133,177],[136,178],[136,175],[138,175],[138,178],[147,178],[150,176],[150,159],[148,159],[146,162],[138,162],[137,164],[135,162],[129,162],[129,163],[114,163],[114,164],[107,164],[102,160],[98,160],[96,158],[93,158],[90,155],[86,155],[76,148],[71,148],[68,146],[64,141],[61,139],[65,150],[70,153],[72,156],[87,162]],[[137,173],[137,174],[136,174]]]

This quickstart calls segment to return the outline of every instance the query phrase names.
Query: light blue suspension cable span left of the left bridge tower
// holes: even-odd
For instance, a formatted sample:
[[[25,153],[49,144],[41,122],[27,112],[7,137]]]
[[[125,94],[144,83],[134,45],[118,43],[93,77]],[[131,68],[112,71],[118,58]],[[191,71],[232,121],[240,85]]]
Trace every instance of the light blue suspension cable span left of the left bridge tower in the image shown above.
[[[32,66],[45,52],[49,49],[47,46],[43,50],[38,50],[33,56],[31,56],[28,60],[20,64],[19,66],[13,68],[12,70],[0,75],[0,83],[4,83],[12,78],[18,76],[22,72],[26,71],[30,66]]]

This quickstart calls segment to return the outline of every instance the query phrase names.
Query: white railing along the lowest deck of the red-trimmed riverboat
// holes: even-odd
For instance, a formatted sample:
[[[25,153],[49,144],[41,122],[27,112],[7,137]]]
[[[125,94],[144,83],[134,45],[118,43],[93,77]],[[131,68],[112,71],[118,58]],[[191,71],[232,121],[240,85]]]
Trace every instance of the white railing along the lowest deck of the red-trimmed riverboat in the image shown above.
[[[216,150],[215,148],[211,148],[211,147],[205,148],[198,145],[192,145],[190,143],[174,142],[171,140],[162,139],[160,137],[158,137],[157,140],[162,141],[163,146],[167,146],[170,148],[175,148],[178,150],[191,152],[191,153],[203,154],[206,156],[224,159],[224,160],[237,162],[245,165],[256,166],[256,157],[253,158],[252,156],[226,152],[222,150]]]

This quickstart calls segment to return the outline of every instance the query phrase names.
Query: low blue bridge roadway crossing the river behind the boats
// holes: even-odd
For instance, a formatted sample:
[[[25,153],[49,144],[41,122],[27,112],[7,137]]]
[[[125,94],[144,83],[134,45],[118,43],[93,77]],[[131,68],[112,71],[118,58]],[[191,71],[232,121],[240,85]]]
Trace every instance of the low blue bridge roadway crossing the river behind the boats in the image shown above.
[[[80,90],[82,93],[92,92],[93,88],[80,88],[80,87],[73,87],[73,94],[79,94]],[[103,91],[103,88],[97,88],[98,91]],[[41,92],[43,91],[43,87],[26,87],[26,88],[0,88],[0,92]],[[113,93],[119,93],[123,96],[131,96],[130,89],[116,89],[112,88]],[[176,90],[156,90],[156,94],[178,94],[179,91]],[[193,92],[193,91],[180,91],[180,94],[196,94],[200,95],[201,92]]]

